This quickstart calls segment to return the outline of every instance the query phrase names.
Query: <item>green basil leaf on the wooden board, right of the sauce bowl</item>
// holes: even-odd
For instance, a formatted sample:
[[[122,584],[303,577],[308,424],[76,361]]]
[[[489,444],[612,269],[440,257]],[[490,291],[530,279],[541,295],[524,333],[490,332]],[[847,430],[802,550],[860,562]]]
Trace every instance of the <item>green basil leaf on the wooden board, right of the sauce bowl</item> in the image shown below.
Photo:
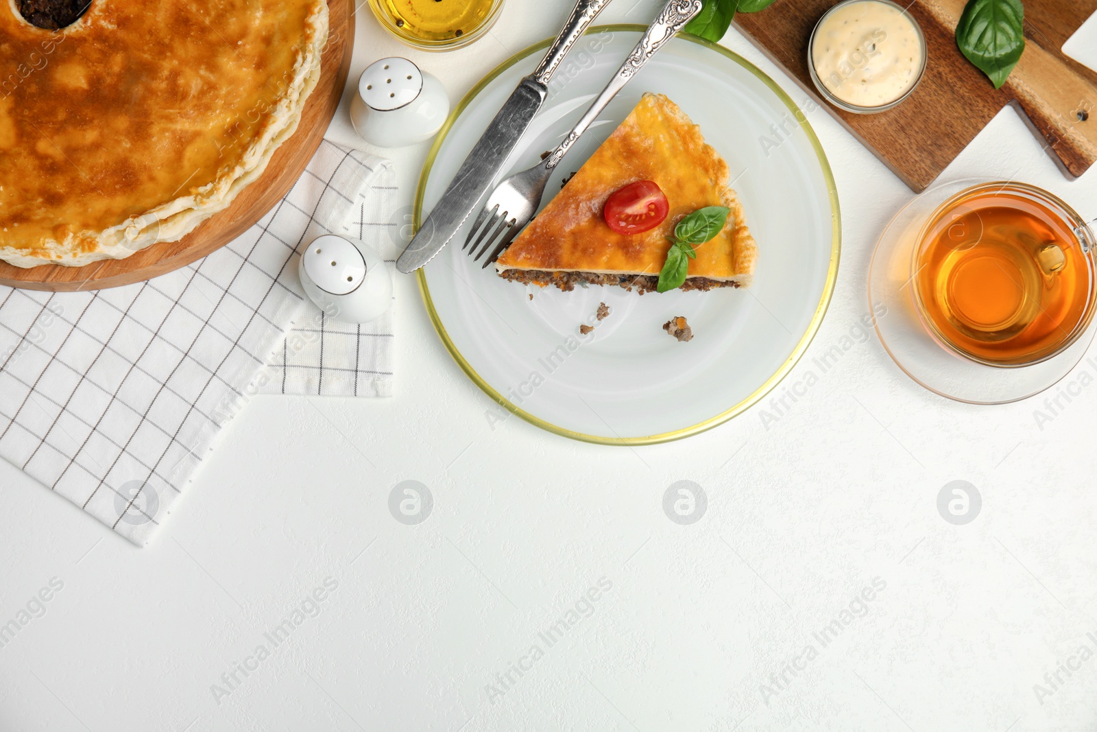
[[[970,0],[957,24],[957,45],[1000,89],[1025,52],[1020,0]]]

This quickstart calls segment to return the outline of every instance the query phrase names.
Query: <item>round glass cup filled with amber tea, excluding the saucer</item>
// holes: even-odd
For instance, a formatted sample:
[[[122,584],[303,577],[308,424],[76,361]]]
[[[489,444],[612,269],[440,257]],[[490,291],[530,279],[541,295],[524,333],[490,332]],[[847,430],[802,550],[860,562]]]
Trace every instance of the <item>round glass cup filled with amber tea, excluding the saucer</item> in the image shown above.
[[[1038,189],[964,191],[934,214],[915,252],[921,317],[979,361],[1021,365],[1053,356],[1092,316],[1088,236],[1066,204]]]

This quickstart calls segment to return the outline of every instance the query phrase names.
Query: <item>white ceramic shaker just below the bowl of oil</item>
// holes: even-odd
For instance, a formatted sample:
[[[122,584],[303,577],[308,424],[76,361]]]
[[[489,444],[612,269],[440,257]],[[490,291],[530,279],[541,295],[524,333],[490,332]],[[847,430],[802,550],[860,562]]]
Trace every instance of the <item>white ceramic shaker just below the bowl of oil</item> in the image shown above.
[[[449,114],[450,98],[442,82],[398,56],[371,64],[359,78],[350,104],[354,131],[377,147],[430,139]]]

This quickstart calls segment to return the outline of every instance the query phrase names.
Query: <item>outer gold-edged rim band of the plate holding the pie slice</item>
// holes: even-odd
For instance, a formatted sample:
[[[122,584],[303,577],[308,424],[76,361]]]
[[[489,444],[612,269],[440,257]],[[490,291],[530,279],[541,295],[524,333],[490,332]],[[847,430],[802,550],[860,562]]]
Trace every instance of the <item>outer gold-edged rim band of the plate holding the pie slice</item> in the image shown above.
[[[640,25],[635,23],[615,23],[609,25],[597,25],[587,30],[586,35],[592,33],[644,33],[647,26]],[[733,61],[744,67],[746,70],[750,71],[755,77],[757,77],[762,83],[765,83],[770,91],[777,94],[778,99],[792,112],[793,119],[798,121],[801,128],[807,135],[808,142],[812,144],[812,148],[815,150],[815,155],[818,158],[819,166],[823,171],[823,177],[826,181],[827,194],[830,199],[830,260],[827,269],[826,283],[823,286],[823,294],[819,297],[818,306],[815,308],[815,314],[812,316],[811,322],[807,324],[807,328],[804,335],[801,337],[796,347],[792,350],[792,353],[788,359],[773,372],[769,379],[767,379],[758,388],[751,392],[747,397],[739,401],[737,404],[731,406],[730,408],[721,412],[720,414],[710,417],[703,421],[692,425],[690,427],[683,427],[680,429],[671,430],[669,432],[660,432],[658,435],[648,435],[644,437],[603,437],[601,435],[588,435],[585,432],[579,432],[576,430],[568,429],[566,427],[561,427],[554,425],[534,414],[525,412],[518,405],[511,403],[506,396],[500,394],[494,386],[488,384],[483,376],[480,376],[473,365],[465,359],[465,357],[457,349],[456,345],[450,338],[449,333],[445,330],[445,326],[442,324],[441,316],[439,315],[437,308],[434,307],[434,302],[430,296],[430,288],[427,284],[427,275],[423,271],[425,268],[419,268],[416,271],[416,279],[419,283],[419,294],[422,296],[423,305],[427,308],[427,314],[430,317],[431,324],[434,326],[434,330],[438,333],[439,338],[442,340],[442,345],[445,346],[445,350],[450,353],[453,360],[457,363],[461,370],[468,376],[474,384],[476,384],[480,391],[487,394],[496,404],[507,409],[511,414],[521,417],[525,421],[530,423],[535,427],[552,432],[554,435],[559,435],[573,440],[578,440],[581,442],[591,442],[595,444],[607,444],[607,446],[624,446],[624,447],[635,447],[644,444],[659,444],[663,442],[671,442],[674,440],[680,440],[687,437],[692,437],[693,435],[699,435],[706,430],[712,429],[719,425],[728,421],[733,417],[738,416],[749,407],[754,406],[767,394],[769,394],[788,374],[792,371],[793,367],[800,362],[807,347],[811,345],[815,335],[818,333],[819,326],[823,323],[823,318],[826,315],[826,311],[830,305],[830,300],[834,296],[835,284],[838,280],[838,260],[841,251],[841,212],[838,205],[838,189],[834,180],[834,173],[830,170],[830,162],[826,157],[826,153],[823,150],[823,144],[819,142],[818,137],[815,135],[815,131],[812,128],[811,124],[807,122],[807,115],[804,114],[801,109],[792,101],[792,98],[778,86],[773,79],[771,79],[765,71],[759,69],[757,66],[743,58],[734,50],[725,48],[720,44],[705,41],[704,38],[699,38],[693,35],[682,34],[678,36],[681,41],[687,41],[689,43],[695,43],[699,46],[705,47],[710,50],[714,50]],[[457,119],[462,113],[468,108],[474,99],[495,79],[497,79],[504,71],[509,69],[511,66],[522,60],[527,56],[535,54],[539,50],[543,50],[548,47],[548,45],[554,41],[554,38],[545,38],[539,43],[535,43],[528,48],[524,48],[507,60],[502,61],[499,66],[488,72],[480,81],[473,87],[464,99],[453,109],[450,113],[449,119],[442,128],[439,131],[438,136],[431,144],[430,151],[427,154],[427,160],[423,162],[422,172],[419,176],[419,184],[416,189],[415,206],[412,212],[412,228],[415,232],[419,230],[419,226],[422,223],[422,202],[427,193],[427,181],[430,178],[430,172],[434,166],[434,160],[438,157],[439,151],[442,148],[442,144],[445,142],[450,129],[456,123]]]

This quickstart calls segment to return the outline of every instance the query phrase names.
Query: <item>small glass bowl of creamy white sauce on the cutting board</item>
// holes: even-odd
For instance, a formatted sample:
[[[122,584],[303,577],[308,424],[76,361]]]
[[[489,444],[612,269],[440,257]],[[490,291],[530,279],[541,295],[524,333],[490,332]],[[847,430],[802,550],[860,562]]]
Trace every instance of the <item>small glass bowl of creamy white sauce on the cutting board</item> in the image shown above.
[[[918,82],[925,42],[911,16],[887,2],[836,5],[815,29],[812,64],[819,82],[852,106],[901,99]]]

